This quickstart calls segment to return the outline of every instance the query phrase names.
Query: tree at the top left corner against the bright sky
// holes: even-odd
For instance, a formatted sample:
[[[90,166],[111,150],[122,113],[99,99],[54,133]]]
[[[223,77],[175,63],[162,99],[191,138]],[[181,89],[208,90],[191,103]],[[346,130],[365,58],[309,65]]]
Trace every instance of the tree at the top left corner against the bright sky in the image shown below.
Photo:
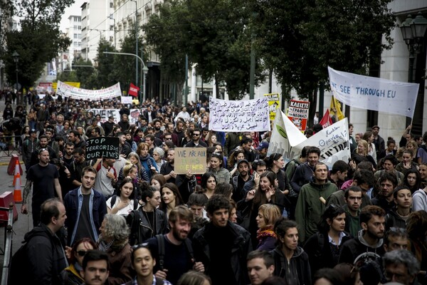
[[[6,2],[6,3],[5,3]],[[14,82],[15,63],[11,53],[18,52],[19,82],[33,86],[48,61],[70,46],[70,38],[59,30],[60,17],[74,0],[11,0],[1,1],[2,11],[19,16],[21,29],[6,32],[4,54],[6,73]]]

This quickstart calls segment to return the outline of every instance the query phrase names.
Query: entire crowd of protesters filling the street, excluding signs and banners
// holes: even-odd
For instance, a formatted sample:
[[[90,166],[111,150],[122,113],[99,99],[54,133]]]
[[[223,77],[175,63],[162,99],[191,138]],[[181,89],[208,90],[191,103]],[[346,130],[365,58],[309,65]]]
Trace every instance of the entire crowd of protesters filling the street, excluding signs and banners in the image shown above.
[[[267,155],[270,132],[209,130],[207,101],[30,93],[12,110],[8,96],[4,122],[19,126],[1,131],[20,136],[26,240],[50,234],[28,249],[34,284],[427,284],[427,134],[411,126],[398,145],[349,125],[352,159],[327,167],[316,146],[286,163]],[[119,138],[120,157],[86,160],[85,140],[102,136]],[[176,147],[206,149],[206,172],[176,173]]]

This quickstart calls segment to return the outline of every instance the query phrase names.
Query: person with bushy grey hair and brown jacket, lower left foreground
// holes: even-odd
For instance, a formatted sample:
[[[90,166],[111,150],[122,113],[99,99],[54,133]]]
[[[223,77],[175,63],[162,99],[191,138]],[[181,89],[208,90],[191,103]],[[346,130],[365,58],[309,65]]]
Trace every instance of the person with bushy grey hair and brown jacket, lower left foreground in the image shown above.
[[[132,248],[129,244],[129,227],[120,214],[105,214],[100,227],[97,249],[108,254],[108,284],[118,285],[131,281]]]

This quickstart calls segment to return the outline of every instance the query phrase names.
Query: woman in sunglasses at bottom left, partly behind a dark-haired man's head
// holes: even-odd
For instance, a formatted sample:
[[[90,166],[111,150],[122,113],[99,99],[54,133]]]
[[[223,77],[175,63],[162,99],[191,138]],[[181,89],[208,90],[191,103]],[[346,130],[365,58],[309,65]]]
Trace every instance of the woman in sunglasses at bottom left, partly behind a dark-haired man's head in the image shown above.
[[[85,257],[85,254],[89,250],[96,248],[95,242],[88,237],[79,239],[73,244],[70,252],[67,252],[70,266],[60,273],[61,279],[64,281],[64,285],[80,285],[85,282],[85,279],[83,279],[83,276],[80,274],[80,270],[83,269],[83,257]]]

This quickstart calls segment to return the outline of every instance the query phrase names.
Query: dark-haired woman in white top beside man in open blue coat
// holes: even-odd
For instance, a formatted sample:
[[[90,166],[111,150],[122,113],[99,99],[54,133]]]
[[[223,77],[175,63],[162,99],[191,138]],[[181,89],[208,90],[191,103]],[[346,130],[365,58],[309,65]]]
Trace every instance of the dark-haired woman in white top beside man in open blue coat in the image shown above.
[[[113,195],[107,199],[107,213],[127,216],[127,214],[132,210],[137,209],[139,207],[139,203],[137,202],[138,200],[135,199],[135,192],[132,178],[125,178],[120,183],[117,195]]]

